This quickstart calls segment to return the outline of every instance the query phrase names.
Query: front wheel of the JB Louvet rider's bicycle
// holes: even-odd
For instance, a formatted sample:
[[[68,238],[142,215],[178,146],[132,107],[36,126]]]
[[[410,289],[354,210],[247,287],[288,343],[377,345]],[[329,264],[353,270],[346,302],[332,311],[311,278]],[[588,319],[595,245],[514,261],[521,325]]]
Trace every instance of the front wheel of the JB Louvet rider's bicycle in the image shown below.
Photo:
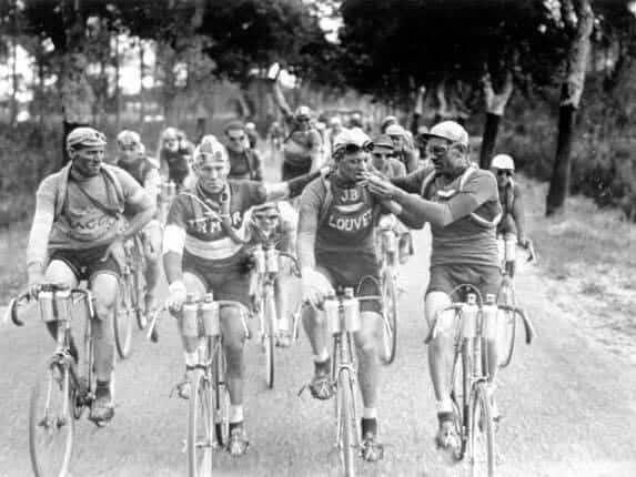
[[[337,448],[345,477],[355,476],[355,402],[350,373],[346,368],[340,369],[336,384]]]

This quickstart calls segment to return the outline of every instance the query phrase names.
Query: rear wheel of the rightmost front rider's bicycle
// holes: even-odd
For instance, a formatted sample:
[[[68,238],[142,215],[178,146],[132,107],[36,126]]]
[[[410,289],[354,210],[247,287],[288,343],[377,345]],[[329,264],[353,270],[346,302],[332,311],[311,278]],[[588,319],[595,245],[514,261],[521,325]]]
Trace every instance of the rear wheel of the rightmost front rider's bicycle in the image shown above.
[[[466,455],[466,419],[468,416],[468,368],[467,364],[467,342],[462,343],[460,353],[455,354],[453,363],[453,375],[451,380],[451,400],[453,403],[453,423],[455,433],[460,437],[460,447],[453,453],[455,460],[462,460]]]

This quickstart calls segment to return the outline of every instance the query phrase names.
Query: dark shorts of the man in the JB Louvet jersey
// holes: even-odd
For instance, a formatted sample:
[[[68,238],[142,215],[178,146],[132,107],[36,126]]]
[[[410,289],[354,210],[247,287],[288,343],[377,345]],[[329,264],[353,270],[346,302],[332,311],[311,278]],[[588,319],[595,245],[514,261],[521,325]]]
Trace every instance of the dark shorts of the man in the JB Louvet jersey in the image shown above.
[[[380,266],[373,253],[316,252],[316,268],[332,286],[352,287],[355,296],[381,295]],[[361,302],[360,311],[381,313],[382,305],[377,301]]]

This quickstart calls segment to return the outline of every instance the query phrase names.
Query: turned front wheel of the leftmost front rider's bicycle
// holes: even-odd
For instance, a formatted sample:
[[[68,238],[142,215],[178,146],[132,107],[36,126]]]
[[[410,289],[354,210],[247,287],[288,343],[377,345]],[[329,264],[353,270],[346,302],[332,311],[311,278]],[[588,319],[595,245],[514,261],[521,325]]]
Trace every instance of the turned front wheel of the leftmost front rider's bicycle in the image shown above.
[[[55,359],[39,373],[29,407],[29,450],[37,477],[63,477],[73,451],[72,379]]]

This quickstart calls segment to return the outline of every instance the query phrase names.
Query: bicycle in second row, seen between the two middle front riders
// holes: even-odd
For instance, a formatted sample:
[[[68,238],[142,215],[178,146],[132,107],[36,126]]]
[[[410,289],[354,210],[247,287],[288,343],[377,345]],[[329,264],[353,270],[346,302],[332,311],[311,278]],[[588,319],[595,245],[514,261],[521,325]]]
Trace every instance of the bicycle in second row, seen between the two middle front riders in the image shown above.
[[[265,246],[258,244],[252,251],[254,258],[255,288],[250,292],[255,296],[255,314],[259,317],[259,335],[265,355],[265,382],[271,389],[274,387],[274,348],[279,335],[276,312],[275,283],[280,274],[279,260],[286,257],[292,261],[292,273],[300,277],[300,267],[296,258],[286,252],[276,250],[272,244]],[[292,338],[295,341],[299,333],[300,314],[293,314]]]

